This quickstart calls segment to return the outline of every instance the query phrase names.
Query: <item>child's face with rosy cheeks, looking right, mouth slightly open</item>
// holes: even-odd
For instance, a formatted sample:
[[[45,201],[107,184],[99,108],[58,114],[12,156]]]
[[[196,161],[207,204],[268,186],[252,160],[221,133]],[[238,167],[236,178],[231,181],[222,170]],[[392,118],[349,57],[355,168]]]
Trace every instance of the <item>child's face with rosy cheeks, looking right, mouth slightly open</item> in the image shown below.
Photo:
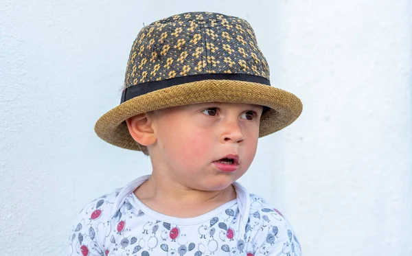
[[[251,165],[261,115],[262,106],[233,103],[192,104],[157,111],[150,115],[156,138],[149,146],[154,172],[192,189],[224,189]],[[215,162],[228,154],[238,155],[234,171],[221,170],[222,165]]]

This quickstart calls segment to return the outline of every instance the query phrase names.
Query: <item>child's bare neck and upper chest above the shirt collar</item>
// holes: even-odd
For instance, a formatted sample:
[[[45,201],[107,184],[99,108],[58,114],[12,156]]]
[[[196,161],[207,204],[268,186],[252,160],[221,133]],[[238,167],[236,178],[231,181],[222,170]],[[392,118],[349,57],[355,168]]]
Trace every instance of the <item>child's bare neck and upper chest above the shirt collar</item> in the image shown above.
[[[156,174],[135,189],[134,194],[152,210],[177,218],[200,216],[236,199],[232,185],[218,191],[201,191]],[[177,209],[176,205],[179,205]]]

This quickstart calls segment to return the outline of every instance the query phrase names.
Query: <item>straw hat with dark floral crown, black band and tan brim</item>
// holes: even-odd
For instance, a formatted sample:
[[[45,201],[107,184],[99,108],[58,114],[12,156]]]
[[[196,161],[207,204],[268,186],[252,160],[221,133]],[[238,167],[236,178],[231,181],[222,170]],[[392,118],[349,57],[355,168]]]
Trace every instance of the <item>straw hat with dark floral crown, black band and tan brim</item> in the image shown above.
[[[137,34],[121,103],[98,119],[95,132],[115,146],[141,150],[126,119],[203,102],[266,106],[259,137],[288,126],[302,110],[299,98],[270,85],[268,63],[247,21],[187,12],[146,25]]]

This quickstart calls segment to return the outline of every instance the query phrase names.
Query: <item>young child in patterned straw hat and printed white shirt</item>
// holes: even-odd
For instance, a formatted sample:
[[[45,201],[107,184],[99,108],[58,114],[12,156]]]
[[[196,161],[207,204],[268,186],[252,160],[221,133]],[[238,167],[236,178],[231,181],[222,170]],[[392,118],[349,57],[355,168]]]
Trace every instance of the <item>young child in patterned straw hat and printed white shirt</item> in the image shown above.
[[[243,19],[194,12],[144,27],[121,104],[95,132],[150,156],[152,174],[84,207],[69,255],[301,255],[282,213],[236,183],[258,138],[301,113],[268,78]]]

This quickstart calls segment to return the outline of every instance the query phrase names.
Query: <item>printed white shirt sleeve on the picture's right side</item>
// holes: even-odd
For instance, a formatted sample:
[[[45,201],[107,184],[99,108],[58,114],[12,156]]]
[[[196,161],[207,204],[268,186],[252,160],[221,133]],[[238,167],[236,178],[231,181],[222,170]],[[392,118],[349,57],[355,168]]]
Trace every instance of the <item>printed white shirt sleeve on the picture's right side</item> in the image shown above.
[[[268,212],[266,208],[254,213],[256,219],[262,220],[254,237],[254,256],[301,256],[301,246],[292,226],[282,213],[272,210]]]

